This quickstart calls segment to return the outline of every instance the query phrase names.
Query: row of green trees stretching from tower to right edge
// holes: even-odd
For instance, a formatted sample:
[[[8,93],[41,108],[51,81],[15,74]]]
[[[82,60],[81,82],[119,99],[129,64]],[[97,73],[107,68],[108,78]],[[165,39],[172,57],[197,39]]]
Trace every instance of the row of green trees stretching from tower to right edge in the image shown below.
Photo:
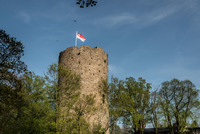
[[[132,77],[125,81],[112,78],[109,85],[111,133],[119,120],[139,133],[143,133],[150,122],[156,133],[160,127],[169,127],[173,133],[173,126],[177,127],[178,133],[185,133],[191,120],[199,118],[199,90],[191,81],[166,81],[151,94],[150,88],[142,78],[138,81]]]

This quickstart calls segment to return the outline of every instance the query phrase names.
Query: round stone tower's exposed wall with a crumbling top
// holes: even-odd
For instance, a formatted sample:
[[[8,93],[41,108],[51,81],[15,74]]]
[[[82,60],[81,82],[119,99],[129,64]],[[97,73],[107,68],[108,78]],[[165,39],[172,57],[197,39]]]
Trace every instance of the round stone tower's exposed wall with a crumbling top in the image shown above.
[[[59,64],[81,76],[81,94],[96,95],[95,106],[100,109],[88,119],[88,122],[108,127],[108,97],[105,91],[100,91],[102,89],[99,86],[102,81],[108,82],[108,54],[99,47],[69,47],[60,53]],[[106,134],[109,134],[109,130]]]

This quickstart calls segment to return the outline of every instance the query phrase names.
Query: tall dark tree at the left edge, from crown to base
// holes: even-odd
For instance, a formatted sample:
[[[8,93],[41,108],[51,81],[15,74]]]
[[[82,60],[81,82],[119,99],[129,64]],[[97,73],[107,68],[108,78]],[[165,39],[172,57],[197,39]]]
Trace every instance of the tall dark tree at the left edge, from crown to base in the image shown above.
[[[19,127],[14,122],[24,105],[20,79],[20,74],[26,71],[26,65],[21,61],[23,49],[20,41],[0,30],[0,133]]]

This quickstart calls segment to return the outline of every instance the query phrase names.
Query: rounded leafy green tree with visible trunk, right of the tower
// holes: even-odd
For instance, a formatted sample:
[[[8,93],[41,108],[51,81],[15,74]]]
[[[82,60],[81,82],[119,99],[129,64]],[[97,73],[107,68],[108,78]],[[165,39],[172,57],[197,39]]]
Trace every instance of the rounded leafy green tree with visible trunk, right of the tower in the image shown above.
[[[151,86],[141,77],[136,81],[126,78],[123,103],[125,104],[125,121],[128,121],[135,132],[142,134],[149,121],[149,99]]]

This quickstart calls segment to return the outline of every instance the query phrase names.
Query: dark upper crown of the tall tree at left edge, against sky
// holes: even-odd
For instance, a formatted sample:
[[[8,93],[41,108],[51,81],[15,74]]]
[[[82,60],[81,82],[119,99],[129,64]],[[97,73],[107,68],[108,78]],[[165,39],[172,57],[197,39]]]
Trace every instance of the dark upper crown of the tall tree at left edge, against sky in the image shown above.
[[[8,72],[23,73],[26,70],[24,62],[20,60],[24,55],[23,49],[20,41],[0,29],[0,80]]]

